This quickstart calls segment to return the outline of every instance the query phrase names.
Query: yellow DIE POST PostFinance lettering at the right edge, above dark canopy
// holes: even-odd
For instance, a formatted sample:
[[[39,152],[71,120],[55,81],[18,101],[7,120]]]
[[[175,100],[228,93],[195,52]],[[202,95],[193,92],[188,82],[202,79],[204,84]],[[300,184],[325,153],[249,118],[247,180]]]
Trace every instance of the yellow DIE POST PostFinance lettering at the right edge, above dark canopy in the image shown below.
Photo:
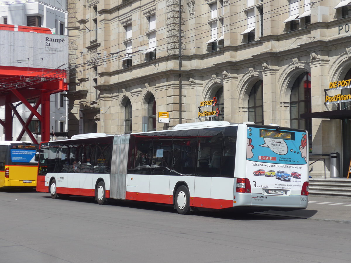
[[[350,80],[340,80],[329,83],[329,89],[325,89],[325,104],[333,104],[339,102],[351,101],[351,94],[346,92],[340,92],[342,89],[351,88]],[[329,92],[331,91],[331,92]],[[327,94],[327,92],[329,94]],[[342,94],[344,93],[344,94]]]

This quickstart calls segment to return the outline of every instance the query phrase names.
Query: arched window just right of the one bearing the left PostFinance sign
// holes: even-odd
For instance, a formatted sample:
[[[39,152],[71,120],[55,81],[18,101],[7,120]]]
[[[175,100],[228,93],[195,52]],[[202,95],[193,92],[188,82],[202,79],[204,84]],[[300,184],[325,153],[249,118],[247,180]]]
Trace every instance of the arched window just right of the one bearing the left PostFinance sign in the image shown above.
[[[259,80],[253,85],[249,96],[247,108],[249,121],[255,124],[263,124],[263,81]]]

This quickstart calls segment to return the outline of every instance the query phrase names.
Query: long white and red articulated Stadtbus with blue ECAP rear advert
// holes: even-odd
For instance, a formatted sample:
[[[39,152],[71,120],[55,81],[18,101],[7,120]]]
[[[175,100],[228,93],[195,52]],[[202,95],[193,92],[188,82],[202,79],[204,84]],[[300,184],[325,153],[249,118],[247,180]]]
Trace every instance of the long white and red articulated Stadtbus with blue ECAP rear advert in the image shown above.
[[[307,207],[307,132],[206,121],[172,130],[81,134],[40,144],[37,191],[196,208]],[[297,174],[299,176],[297,176]],[[294,175],[295,177],[293,177]]]

